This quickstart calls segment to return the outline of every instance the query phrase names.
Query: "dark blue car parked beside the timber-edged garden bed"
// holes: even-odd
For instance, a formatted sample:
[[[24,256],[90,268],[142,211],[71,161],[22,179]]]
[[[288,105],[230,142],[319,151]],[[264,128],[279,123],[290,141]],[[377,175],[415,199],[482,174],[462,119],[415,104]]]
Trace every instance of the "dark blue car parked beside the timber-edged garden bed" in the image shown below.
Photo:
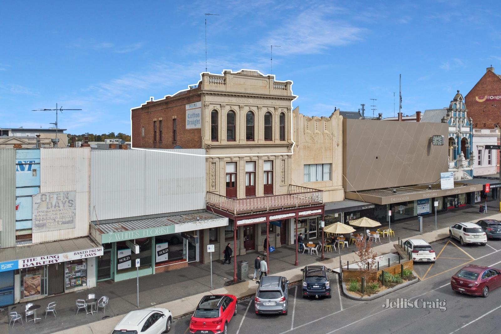
[[[307,265],[303,269],[303,298],[309,296],[327,296],[331,295],[331,283],[329,282],[329,272],[324,265]]]

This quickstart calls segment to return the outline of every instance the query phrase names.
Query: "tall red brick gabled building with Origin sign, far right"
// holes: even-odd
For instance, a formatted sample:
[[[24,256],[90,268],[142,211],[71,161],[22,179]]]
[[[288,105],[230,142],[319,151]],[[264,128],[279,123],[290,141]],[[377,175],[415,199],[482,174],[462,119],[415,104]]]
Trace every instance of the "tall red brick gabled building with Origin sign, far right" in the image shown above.
[[[493,129],[501,122],[501,76],[488,67],[485,74],[464,97],[468,116],[475,129]]]

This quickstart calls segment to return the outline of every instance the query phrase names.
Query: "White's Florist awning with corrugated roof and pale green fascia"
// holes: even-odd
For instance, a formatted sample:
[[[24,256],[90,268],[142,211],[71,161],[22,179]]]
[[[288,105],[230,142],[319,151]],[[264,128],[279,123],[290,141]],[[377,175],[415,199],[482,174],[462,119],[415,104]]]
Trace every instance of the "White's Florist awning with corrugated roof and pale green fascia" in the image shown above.
[[[91,235],[103,244],[226,225],[228,218],[204,211],[110,223],[92,222]]]

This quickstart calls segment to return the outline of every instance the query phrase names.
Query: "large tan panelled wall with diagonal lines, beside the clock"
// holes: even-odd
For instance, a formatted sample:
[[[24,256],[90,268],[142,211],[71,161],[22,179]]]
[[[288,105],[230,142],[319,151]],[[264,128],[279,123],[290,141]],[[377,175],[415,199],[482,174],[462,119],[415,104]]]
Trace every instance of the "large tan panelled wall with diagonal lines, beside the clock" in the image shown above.
[[[431,183],[448,170],[447,123],[343,120],[345,191]]]

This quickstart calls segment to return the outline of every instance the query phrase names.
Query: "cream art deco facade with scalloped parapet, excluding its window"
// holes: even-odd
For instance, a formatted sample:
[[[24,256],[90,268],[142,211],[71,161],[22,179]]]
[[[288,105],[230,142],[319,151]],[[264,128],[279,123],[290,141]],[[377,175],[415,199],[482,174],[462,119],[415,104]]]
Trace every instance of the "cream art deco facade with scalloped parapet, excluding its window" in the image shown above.
[[[291,184],[324,191],[324,202],[344,200],[343,189],[343,116],[308,117],[292,112],[294,154]],[[305,165],[331,164],[330,180],[305,182]]]

